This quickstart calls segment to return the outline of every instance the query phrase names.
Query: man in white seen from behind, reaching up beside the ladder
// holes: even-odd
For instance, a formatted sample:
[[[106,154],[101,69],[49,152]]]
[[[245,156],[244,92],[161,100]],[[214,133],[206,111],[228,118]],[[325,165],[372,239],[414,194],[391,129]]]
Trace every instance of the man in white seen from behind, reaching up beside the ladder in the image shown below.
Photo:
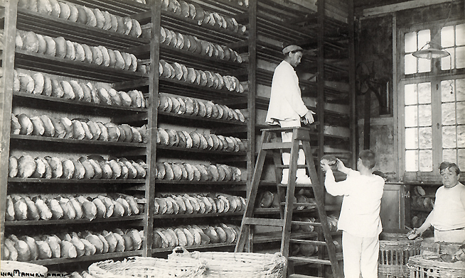
[[[363,278],[378,277],[384,179],[373,174],[375,164],[375,153],[371,150],[363,150],[358,155],[358,171],[338,160],[338,170],[347,174],[347,178],[336,182],[327,160],[321,160],[321,168],[326,172],[326,191],[343,196],[338,230],[342,230],[345,278],[359,278],[360,273]]]

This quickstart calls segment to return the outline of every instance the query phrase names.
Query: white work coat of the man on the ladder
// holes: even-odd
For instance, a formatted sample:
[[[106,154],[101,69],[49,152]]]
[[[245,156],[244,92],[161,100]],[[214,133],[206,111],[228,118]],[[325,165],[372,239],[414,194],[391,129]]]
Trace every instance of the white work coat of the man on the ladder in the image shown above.
[[[299,77],[294,67],[282,61],[274,70],[265,123],[300,120],[309,111],[301,98]]]

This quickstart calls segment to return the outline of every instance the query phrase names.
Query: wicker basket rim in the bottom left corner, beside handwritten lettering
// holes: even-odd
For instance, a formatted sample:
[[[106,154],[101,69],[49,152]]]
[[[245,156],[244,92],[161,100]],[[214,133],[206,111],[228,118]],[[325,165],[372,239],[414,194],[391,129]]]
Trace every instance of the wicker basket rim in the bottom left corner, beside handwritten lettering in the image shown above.
[[[0,262],[0,269],[1,277],[47,277],[48,272],[43,265],[7,260]]]

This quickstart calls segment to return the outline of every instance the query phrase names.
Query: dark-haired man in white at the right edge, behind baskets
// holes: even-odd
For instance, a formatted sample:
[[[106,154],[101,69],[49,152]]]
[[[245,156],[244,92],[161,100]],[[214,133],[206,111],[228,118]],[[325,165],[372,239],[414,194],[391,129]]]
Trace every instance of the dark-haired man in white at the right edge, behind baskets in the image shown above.
[[[465,185],[459,182],[460,169],[455,163],[439,165],[442,187],[436,191],[434,208],[423,225],[409,233],[416,238],[429,227],[434,228],[434,241],[465,243]]]

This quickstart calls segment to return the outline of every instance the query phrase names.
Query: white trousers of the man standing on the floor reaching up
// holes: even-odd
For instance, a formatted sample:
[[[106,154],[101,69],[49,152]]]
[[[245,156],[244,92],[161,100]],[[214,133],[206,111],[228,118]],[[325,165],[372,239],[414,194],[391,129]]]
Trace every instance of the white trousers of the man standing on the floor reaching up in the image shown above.
[[[378,278],[378,256],[380,240],[375,238],[360,238],[350,233],[342,232],[342,255],[344,262],[344,277]]]

